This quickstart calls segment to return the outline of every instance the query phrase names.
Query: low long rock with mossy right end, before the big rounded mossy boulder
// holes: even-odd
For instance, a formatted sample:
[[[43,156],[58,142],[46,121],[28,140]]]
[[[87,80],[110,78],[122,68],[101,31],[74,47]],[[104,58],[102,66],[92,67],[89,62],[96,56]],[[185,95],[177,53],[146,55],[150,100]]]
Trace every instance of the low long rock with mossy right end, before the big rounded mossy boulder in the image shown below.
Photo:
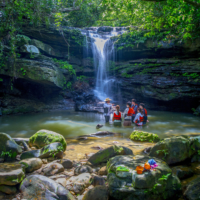
[[[42,149],[36,149],[32,151],[23,152],[20,156],[20,159],[28,159],[28,158],[62,158],[63,157],[64,148],[60,142],[55,142],[49,145],[44,146]]]

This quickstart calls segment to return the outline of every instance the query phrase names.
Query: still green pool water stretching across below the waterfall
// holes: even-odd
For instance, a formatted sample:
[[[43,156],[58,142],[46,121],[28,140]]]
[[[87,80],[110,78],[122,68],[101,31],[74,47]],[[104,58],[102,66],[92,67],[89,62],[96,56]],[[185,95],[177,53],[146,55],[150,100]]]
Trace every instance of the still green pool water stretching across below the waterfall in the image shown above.
[[[104,123],[103,114],[84,113],[74,111],[25,114],[0,117],[0,132],[10,134],[12,137],[32,136],[40,129],[48,129],[64,135],[65,138],[75,138],[101,131],[120,133],[119,136],[128,138],[133,129],[157,133],[161,138],[172,135],[198,135],[200,134],[200,118],[188,113],[173,113],[161,111],[148,111],[149,123],[143,127],[116,128]],[[97,124],[104,127],[96,130]]]

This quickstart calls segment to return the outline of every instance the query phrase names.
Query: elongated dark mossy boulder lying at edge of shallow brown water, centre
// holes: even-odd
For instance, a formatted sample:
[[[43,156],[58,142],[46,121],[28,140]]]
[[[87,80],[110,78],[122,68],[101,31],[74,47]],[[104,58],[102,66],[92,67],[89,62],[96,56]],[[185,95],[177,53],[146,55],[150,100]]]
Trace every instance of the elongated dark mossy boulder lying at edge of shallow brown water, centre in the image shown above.
[[[107,162],[110,158],[117,155],[133,155],[131,149],[123,146],[113,145],[106,149],[100,150],[97,153],[93,154],[88,161],[93,165]]]

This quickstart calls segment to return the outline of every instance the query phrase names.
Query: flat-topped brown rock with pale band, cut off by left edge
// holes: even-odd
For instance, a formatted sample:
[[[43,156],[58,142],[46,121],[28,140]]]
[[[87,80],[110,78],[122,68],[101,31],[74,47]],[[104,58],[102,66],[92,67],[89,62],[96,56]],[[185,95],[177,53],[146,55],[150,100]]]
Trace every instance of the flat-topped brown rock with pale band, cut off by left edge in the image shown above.
[[[24,179],[24,166],[16,163],[0,163],[0,185],[17,185]]]

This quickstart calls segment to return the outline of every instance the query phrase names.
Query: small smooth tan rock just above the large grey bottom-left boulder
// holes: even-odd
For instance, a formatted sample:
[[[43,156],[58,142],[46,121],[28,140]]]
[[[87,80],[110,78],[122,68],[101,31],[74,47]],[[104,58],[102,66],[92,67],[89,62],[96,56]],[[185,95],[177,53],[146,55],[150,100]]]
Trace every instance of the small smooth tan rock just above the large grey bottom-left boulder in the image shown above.
[[[42,167],[42,160],[40,158],[29,158],[20,161],[20,164],[25,165],[26,172],[30,173]]]

